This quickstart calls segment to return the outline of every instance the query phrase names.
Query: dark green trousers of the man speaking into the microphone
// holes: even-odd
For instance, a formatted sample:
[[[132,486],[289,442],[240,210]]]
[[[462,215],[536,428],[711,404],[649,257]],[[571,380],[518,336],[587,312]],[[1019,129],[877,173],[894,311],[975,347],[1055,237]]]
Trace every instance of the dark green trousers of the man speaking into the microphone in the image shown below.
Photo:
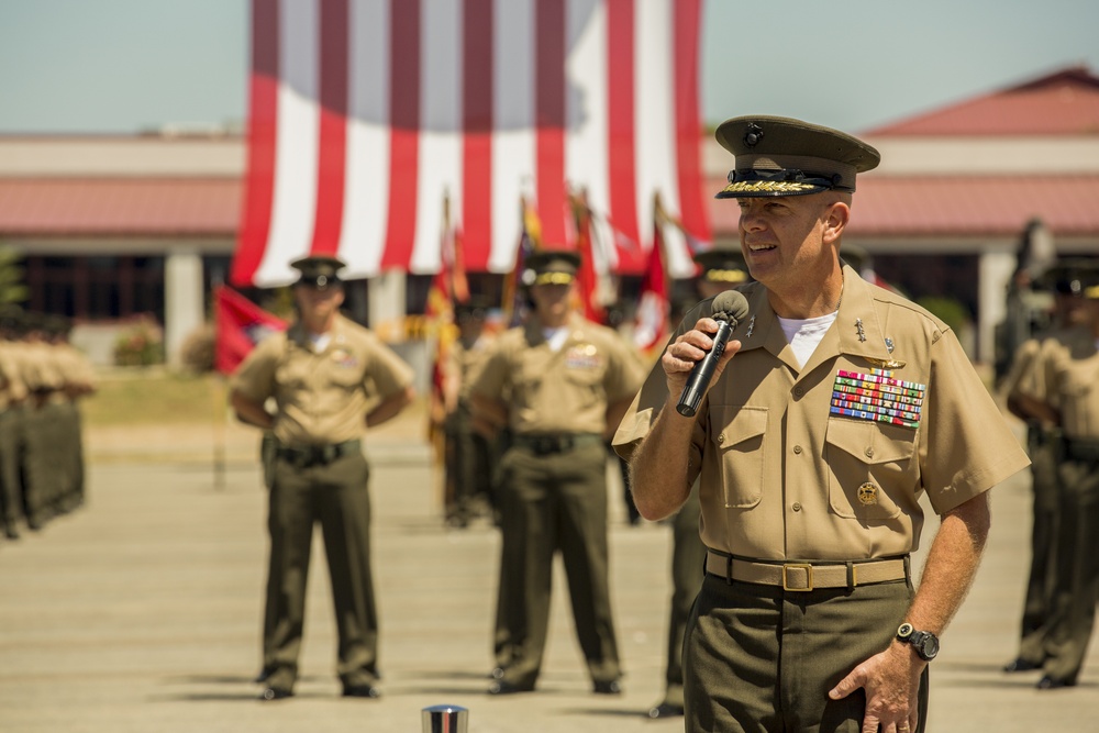
[[[863,691],[828,692],[889,646],[912,596],[904,581],[787,592],[707,575],[684,645],[687,733],[859,733]]]

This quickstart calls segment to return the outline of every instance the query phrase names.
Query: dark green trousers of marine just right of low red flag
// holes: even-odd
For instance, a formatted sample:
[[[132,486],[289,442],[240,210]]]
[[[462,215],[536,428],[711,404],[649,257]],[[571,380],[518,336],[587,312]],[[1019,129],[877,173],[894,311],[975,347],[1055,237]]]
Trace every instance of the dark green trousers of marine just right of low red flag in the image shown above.
[[[279,457],[270,493],[273,556],[281,584],[275,600],[270,687],[292,689],[306,618],[313,524],[320,522],[338,633],[336,671],[344,687],[377,678],[378,617],[370,571],[369,467],[360,452],[300,466]]]

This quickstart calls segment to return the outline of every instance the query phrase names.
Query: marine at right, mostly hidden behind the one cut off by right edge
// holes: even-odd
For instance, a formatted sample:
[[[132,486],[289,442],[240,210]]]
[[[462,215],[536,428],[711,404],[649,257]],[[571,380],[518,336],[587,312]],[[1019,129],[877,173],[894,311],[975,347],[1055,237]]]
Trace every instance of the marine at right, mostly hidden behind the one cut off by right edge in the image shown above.
[[[1047,269],[1033,284],[1035,290],[1053,291],[1051,329],[1023,342],[1011,368],[1000,385],[1008,410],[1026,423],[1026,453],[1031,459],[1031,566],[1023,600],[1019,653],[1003,666],[1003,671],[1041,669],[1046,659],[1046,644],[1056,614],[1058,577],[1057,540],[1061,524],[1061,481],[1057,468],[1063,459],[1064,436],[1058,417],[1047,404],[1045,369],[1039,358],[1046,351],[1064,345],[1079,329],[1086,329],[1088,301],[1084,298],[1081,276],[1096,269],[1089,260],[1063,262]]]

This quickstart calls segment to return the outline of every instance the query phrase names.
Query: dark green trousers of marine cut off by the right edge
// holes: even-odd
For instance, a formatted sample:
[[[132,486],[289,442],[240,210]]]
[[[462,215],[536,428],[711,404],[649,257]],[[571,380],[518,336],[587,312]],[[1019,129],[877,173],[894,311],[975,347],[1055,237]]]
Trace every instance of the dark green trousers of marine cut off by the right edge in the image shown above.
[[[1059,477],[1057,591],[1042,670],[1074,684],[1084,666],[1099,602],[1099,458],[1067,458]]]

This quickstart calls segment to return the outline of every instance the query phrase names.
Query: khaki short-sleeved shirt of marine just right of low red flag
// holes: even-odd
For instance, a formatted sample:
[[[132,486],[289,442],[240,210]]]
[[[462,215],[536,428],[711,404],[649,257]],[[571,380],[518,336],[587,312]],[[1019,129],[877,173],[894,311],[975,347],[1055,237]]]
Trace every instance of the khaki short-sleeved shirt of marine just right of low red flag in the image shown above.
[[[412,384],[412,369],[374,333],[337,315],[328,345],[313,347],[300,323],[264,338],[232,387],[263,403],[275,398],[275,436],[284,445],[343,443],[366,432],[371,397]]]

